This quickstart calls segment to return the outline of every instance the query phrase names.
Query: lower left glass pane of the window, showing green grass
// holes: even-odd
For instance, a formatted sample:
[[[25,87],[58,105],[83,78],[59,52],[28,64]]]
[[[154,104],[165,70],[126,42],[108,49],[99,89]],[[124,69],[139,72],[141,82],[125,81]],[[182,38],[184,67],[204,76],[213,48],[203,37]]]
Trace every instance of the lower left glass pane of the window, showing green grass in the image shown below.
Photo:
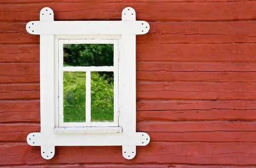
[[[86,72],[63,72],[64,122],[85,122]]]

